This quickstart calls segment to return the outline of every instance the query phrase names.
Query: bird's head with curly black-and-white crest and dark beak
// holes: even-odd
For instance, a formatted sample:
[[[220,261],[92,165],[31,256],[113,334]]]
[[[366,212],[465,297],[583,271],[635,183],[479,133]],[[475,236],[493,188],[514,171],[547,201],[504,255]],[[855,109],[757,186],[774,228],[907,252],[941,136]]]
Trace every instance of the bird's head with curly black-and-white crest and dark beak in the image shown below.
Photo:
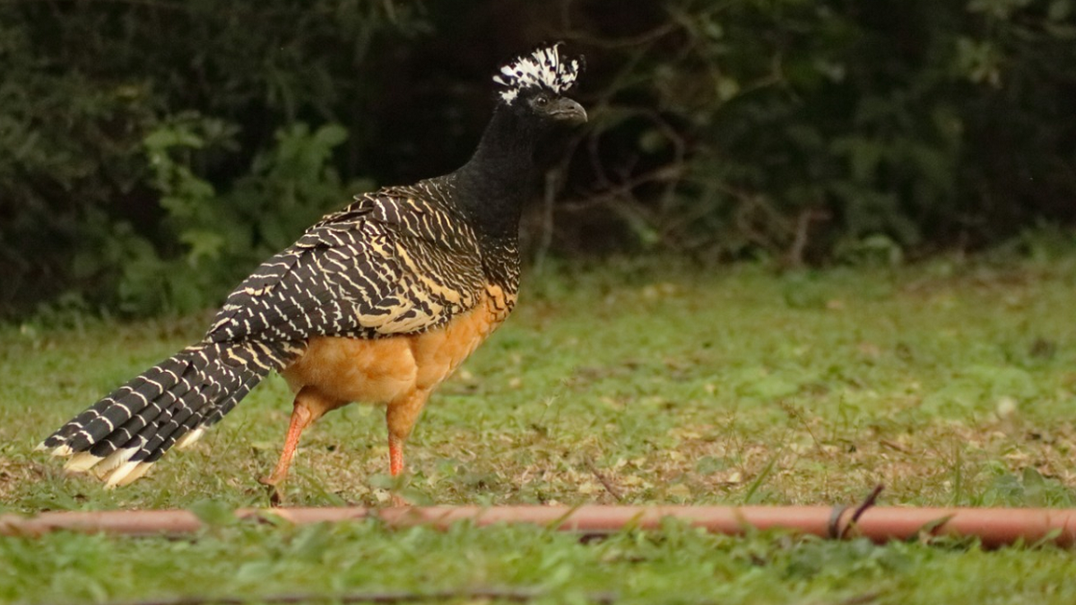
[[[543,44],[500,68],[493,81],[500,103],[549,124],[586,122],[586,111],[565,95],[583,71],[583,57],[562,57],[561,43]]]

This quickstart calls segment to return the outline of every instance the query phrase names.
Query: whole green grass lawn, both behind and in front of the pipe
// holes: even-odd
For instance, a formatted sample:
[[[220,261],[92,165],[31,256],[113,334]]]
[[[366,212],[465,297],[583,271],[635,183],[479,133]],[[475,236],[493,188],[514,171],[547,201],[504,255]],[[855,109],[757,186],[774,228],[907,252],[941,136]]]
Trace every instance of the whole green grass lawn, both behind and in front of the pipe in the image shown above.
[[[56,323],[56,322],[53,322]],[[32,452],[208,316],[0,327],[0,511],[266,506],[291,397],[259,386],[192,450],[104,491]],[[303,438],[289,505],[1076,506],[1076,256],[777,276],[549,270],[435,395],[385,476],[381,409]],[[0,538],[0,601],[536,590],[539,602],[1073,603],[1052,547],[534,527],[225,524],[192,539]],[[453,602],[500,602],[462,595]]]

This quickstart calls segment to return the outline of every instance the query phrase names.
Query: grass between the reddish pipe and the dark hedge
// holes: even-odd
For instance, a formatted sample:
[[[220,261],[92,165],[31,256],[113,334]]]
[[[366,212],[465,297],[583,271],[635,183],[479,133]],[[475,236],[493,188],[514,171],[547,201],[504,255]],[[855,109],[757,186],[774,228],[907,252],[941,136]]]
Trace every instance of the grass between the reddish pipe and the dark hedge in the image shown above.
[[[511,321],[431,399],[410,475],[384,475],[384,410],[348,406],[303,435],[286,501],[834,504],[883,482],[894,504],[1067,505],[1076,324],[1058,318],[1074,296],[1076,250],[781,276],[663,258],[527,280]],[[293,396],[279,377],[128,489],[32,452],[206,322],[0,326],[0,507],[265,505],[254,478]]]

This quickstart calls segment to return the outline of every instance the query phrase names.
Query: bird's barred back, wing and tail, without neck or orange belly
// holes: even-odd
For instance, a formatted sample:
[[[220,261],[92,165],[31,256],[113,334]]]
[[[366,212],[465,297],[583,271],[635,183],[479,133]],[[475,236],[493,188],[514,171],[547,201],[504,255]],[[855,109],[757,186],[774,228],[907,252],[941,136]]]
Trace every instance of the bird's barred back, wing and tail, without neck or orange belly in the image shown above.
[[[470,309],[485,278],[478,237],[447,203],[452,180],[388,187],[326,215],[228,296],[201,342],[94,404],[41,448],[73,454],[69,470],[126,484],[221,420],[308,338],[414,334]]]

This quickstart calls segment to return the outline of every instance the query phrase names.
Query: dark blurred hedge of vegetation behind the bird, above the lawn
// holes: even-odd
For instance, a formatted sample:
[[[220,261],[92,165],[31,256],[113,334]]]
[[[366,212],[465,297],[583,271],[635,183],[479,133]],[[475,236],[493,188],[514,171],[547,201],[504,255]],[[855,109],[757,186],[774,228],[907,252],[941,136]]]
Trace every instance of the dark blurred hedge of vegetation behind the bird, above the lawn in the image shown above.
[[[586,55],[532,261],[886,263],[1072,239],[1076,0],[4,0],[0,318],[214,306]],[[553,201],[556,200],[556,201]],[[1042,239],[1042,236],[1036,236]]]

